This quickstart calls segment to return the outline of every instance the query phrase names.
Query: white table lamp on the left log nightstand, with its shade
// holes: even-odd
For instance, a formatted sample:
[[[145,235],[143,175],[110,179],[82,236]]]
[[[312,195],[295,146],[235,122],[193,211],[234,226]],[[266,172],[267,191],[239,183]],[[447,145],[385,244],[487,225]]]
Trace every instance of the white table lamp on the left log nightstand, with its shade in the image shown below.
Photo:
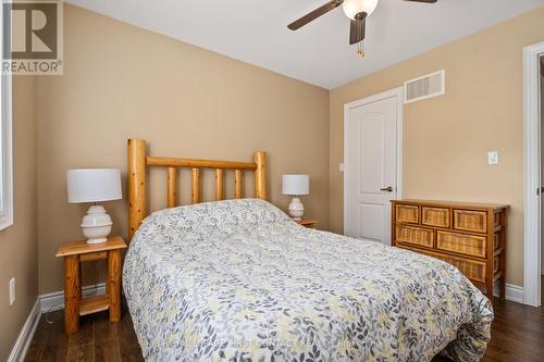
[[[87,244],[106,242],[113,223],[98,202],[122,199],[121,172],[116,168],[69,170],[66,182],[70,203],[94,203],[82,221]]]

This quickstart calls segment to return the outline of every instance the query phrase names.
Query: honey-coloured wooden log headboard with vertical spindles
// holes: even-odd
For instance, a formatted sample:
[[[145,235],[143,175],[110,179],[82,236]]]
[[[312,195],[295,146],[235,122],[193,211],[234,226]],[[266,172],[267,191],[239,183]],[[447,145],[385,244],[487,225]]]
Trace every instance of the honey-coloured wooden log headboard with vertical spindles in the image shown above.
[[[234,195],[243,197],[242,179],[244,171],[255,172],[255,197],[267,199],[267,152],[254,153],[254,162],[190,160],[147,155],[144,139],[128,139],[128,238],[132,240],[141,221],[147,216],[147,166],[166,167],[166,204],[177,205],[177,170],[191,168],[191,203],[200,202],[200,170],[215,170],[215,200],[223,200],[223,175],[225,170],[234,170]]]

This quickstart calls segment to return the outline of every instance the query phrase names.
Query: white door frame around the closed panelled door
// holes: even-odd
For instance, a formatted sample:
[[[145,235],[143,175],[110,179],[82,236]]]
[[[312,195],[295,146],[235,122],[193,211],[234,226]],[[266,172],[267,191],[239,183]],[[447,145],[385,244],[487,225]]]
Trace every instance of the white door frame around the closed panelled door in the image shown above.
[[[394,88],[384,92],[362,98],[349,103],[344,104],[344,234],[347,230],[347,180],[349,174],[349,160],[348,160],[348,135],[347,123],[349,121],[349,110],[361,107],[364,104],[378,102],[384,99],[397,97],[397,166],[396,166],[396,190],[397,199],[401,199],[404,195],[404,87]],[[391,244],[390,244],[391,245]]]

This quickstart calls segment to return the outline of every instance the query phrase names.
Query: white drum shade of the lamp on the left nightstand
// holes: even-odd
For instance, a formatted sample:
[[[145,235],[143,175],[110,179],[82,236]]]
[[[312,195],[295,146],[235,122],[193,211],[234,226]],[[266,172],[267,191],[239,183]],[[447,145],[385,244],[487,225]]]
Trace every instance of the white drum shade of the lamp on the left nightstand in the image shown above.
[[[78,168],[66,173],[69,202],[122,199],[121,172],[116,168]]]

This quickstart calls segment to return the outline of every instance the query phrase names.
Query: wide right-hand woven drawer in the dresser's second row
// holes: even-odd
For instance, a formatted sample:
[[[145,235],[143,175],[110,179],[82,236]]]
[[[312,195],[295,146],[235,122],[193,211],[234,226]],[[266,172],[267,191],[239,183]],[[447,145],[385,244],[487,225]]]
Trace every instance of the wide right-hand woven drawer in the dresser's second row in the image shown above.
[[[487,238],[470,234],[458,234],[437,230],[436,249],[485,258]]]

